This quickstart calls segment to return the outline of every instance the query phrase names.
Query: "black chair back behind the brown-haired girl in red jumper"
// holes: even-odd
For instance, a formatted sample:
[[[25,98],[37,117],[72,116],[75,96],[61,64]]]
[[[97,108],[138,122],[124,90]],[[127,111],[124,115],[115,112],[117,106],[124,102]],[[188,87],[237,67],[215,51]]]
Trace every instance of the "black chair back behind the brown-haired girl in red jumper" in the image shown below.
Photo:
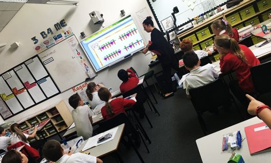
[[[106,131],[111,128],[117,127],[123,123],[125,124],[124,128],[125,133],[129,134],[136,131],[134,126],[124,113],[120,113],[110,119],[100,122],[99,126],[102,128],[103,131]]]

